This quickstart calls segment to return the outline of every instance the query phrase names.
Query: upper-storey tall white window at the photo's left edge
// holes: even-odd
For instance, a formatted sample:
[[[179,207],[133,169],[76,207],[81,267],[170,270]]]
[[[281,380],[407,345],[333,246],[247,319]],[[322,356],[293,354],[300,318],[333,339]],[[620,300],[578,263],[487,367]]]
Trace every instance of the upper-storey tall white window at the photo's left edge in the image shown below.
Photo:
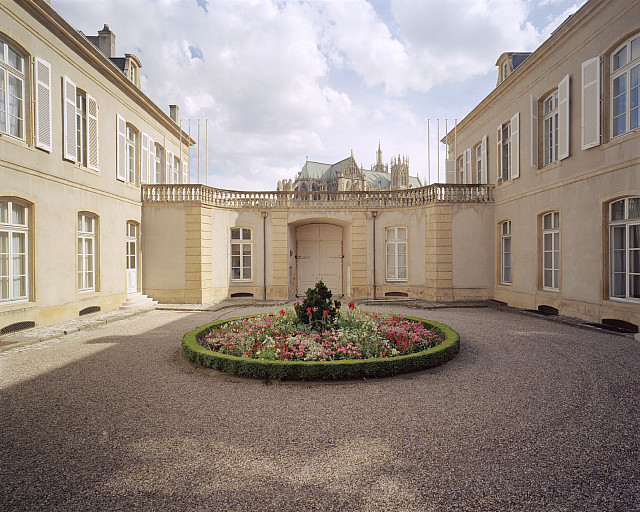
[[[24,140],[24,58],[0,39],[0,132]]]

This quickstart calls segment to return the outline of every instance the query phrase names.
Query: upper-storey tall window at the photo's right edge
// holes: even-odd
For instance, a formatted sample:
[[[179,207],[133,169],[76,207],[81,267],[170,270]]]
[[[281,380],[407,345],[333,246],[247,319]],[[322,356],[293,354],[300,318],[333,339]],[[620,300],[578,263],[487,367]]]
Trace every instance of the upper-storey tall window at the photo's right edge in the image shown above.
[[[611,56],[611,134],[638,128],[640,36],[625,41]]]

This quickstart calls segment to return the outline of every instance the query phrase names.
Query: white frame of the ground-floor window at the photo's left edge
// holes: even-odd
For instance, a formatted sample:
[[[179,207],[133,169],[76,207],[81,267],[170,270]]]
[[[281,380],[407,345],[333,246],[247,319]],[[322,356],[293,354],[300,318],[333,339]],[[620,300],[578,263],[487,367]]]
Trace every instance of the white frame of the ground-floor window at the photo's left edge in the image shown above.
[[[29,253],[29,237],[30,237],[30,206],[29,204],[19,199],[13,199],[11,197],[0,198],[0,204],[6,204],[7,218],[3,220],[2,209],[0,207],[0,233],[6,234],[6,252],[0,252],[0,305],[16,302],[27,302],[29,300],[29,273],[30,273],[30,253]],[[23,211],[24,222],[18,223],[13,220],[14,206],[18,206]],[[14,246],[14,237],[22,237],[24,250],[16,253]],[[2,251],[2,245],[0,245],[0,251]],[[16,254],[22,259],[23,272],[17,275],[18,279],[24,279],[24,294],[15,295],[15,261]],[[2,270],[2,259],[5,260],[6,275]],[[6,297],[2,296],[2,281],[6,280]]]

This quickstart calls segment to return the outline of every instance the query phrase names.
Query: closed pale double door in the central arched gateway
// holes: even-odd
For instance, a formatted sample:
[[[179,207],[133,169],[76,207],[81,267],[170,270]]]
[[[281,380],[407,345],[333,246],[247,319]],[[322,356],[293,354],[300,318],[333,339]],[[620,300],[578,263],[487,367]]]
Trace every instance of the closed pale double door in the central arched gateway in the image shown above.
[[[342,295],[342,228],[307,224],[296,230],[298,295],[320,280],[334,296]]]

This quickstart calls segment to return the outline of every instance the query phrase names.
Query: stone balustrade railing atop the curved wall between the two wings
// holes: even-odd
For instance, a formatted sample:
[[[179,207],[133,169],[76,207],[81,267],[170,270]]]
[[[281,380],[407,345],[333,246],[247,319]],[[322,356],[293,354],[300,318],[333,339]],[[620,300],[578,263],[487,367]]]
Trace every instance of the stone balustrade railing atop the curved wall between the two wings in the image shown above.
[[[435,183],[406,190],[241,192],[206,185],[143,185],[143,203],[200,203],[221,208],[403,208],[432,203],[492,203],[493,185]]]

